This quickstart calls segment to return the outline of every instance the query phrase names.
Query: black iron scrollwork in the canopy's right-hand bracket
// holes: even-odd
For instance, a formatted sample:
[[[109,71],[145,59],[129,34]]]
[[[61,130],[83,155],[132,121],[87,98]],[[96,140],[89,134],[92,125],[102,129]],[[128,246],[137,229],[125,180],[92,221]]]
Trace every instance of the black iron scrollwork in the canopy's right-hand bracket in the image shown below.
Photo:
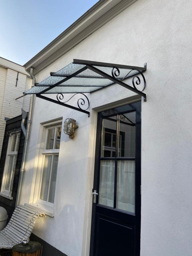
[[[146,63],[145,63],[144,65],[146,66]],[[124,80],[125,78],[130,77],[130,76],[131,76],[130,73],[131,73],[132,71],[137,71],[137,72],[142,76],[143,82],[144,82],[143,90],[138,90],[137,87],[136,87],[136,85],[140,85],[140,84],[141,84],[141,79],[140,79],[140,77],[138,76],[138,73],[135,74],[135,75],[133,75],[132,84],[133,84],[133,87],[134,87],[136,90],[138,90],[138,91],[140,91],[140,92],[143,92],[143,91],[145,90],[145,88],[146,88],[146,80],[145,80],[145,77],[144,77],[143,73],[142,73],[140,70],[138,70],[138,69],[132,69],[131,71],[129,71],[129,72],[127,73],[126,76],[124,76],[123,78],[121,78],[121,79],[119,79],[119,80]],[[112,76],[113,76],[114,78],[117,78],[117,77],[120,75],[120,70],[119,70],[117,67],[113,67],[111,74],[112,74]],[[136,80],[136,79],[137,79],[137,80]]]

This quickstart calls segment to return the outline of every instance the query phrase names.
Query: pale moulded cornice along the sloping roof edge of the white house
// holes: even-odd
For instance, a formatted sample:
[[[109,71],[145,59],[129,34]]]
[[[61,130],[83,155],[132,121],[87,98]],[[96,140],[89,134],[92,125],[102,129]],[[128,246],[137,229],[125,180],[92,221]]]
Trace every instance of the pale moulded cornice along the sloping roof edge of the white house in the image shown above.
[[[137,0],[100,0],[63,33],[23,66],[34,74],[53,63],[83,39],[114,18]]]

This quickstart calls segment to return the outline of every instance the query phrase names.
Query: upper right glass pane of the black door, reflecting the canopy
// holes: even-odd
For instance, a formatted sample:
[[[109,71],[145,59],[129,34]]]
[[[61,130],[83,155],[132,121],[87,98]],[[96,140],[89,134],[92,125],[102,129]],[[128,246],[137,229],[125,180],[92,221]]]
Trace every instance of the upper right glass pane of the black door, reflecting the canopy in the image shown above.
[[[135,157],[136,112],[119,115],[118,157]]]

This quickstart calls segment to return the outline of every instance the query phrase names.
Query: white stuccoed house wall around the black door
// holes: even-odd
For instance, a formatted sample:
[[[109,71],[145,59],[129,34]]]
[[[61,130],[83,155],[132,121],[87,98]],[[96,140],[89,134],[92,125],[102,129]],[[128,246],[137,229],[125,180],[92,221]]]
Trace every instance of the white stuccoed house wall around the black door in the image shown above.
[[[147,102],[142,101],[141,256],[191,256],[192,252],[191,12],[189,0],[138,0],[37,75],[40,82],[73,58],[135,66],[147,62]],[[90,118],[35,99],[22,203],[33,202],[40,123],[71,117],[79,125],[73,140],[61,134],[55,216],[39,218],[34,229],[67,255],[89,254],[93,108],[125,103],[132,95],[118,85],[90,94]]]

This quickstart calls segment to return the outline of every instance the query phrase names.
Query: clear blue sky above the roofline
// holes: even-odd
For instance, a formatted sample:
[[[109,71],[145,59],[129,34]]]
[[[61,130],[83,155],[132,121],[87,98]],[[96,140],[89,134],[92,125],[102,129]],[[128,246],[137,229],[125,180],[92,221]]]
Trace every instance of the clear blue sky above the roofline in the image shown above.
[[[0,56],[25,64],[98,0],[0,0]]]

